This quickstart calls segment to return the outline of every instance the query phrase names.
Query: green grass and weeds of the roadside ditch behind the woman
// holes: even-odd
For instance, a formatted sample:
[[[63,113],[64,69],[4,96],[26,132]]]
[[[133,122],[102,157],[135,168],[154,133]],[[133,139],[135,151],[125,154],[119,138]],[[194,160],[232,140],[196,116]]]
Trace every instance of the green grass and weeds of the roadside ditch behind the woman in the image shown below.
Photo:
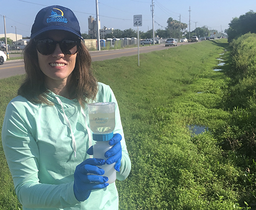
[[[244,171],[220,144],[230,78],[213,69],[227,47],[223,39],[141,54],[139,67],[137,56],[93,62],[115,92],[132,160],[130,176],[116,182],[119,209],[246,209]],[[22,79],[0,80],[0,129]],[[195,135],[194,126],[207,129]],[[18,209],[2,145],[0,155],[0,208]]]

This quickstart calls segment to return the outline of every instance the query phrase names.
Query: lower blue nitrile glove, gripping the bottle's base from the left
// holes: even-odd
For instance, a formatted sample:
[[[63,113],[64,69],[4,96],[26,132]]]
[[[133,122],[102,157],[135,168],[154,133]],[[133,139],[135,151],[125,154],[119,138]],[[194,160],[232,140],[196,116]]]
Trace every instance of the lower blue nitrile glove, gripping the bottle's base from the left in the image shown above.
[[[109,185],[109,183],[105,183],[109,180],[108,177],[98,176],[103,175],[104,170],[97,166],[104,164],[104,159],[89,158],[76,167],[74,173],[74,194],[78,201],[81,202],[88,199],[92,190],[103,189]],[[89,175],[88,173],[98,175]]]

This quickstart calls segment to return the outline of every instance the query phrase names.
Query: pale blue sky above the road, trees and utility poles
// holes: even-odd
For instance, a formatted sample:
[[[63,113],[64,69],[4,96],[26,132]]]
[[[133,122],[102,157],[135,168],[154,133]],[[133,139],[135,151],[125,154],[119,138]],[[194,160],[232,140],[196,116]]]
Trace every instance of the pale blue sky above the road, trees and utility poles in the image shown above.
[[[165,29],[169,17],[189,24],[190,6],[190,31],[195,27],[206,26],[208,29],[224,31],[233,17],[239,17],[246,12],[256,11],[255,0],[154,0],[155,30]],[[81,27],[81,33],[88,33],[88,17],[96,18],[95,0],[1,0],[0,34],[4,33],[4,18],[6,16],[7,33],[30,36],[31,26],[37,12],[51,5],[61,5],[70,8],[76,14]],[[125,30],[132,28],[133,16],[142,15],[140,31],[152,29],[152,0],[98,0],[100,26]],[[13,26],[13,27],[11,27]],[[188,30],[188,28],[187,28]]]

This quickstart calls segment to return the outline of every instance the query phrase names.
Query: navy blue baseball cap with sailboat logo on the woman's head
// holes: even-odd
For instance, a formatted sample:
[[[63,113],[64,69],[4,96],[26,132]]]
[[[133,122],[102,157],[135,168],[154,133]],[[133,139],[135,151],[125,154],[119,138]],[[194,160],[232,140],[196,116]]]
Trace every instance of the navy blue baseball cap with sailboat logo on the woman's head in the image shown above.
[[[64,30],[77,35],[83,40],[80,32],[79,22],[69,8],[53,5],[41,9],[36,17],[31,29],[30,38],[51,30]]]

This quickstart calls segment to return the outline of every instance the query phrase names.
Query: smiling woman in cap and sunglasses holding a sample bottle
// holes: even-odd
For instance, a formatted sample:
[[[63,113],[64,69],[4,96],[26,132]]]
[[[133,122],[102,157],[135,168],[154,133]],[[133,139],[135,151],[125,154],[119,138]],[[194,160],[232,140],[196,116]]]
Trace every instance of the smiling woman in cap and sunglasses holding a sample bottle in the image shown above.
[[[108,85],[91,72],[78,20],[65,7],[38,12],[24,50],[27,77],[7,106],[2,142],[23,209],[118,209],[115,183],[130,173],[118,105]],[[115,102],[116,126],[108,159],[90,158],[88,103]],[[102,175],[102,176],[101,176]]]

